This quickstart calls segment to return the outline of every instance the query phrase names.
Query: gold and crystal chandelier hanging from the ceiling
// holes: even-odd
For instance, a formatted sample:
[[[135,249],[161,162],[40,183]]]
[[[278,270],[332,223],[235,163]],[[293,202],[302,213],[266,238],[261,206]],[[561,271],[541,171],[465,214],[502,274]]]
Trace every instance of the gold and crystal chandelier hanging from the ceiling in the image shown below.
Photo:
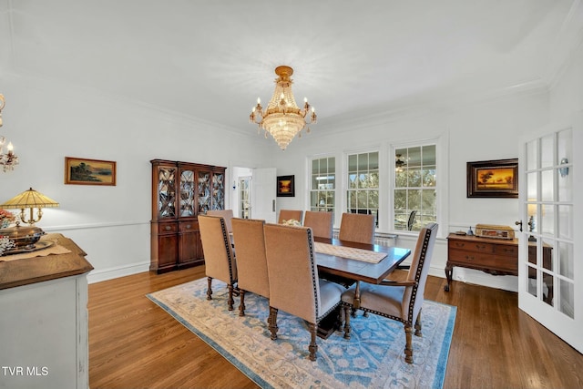
[[[282,150],[288,147],[293,137],[298,135],[302,138],[302,129],[310,133],[310,128],[306,124],[316,123],[316,113],[314,108],[308,104],[308,99],[303,99],[303,109],[295,103],[292,93],[292,67],[276,67],[275,74],[279,77],[275,79],[275,91],[271,96],[270,103],[266,110],[261,107],[261,99],[257,98],[257,106],[253,107],[249,119],[251,123],[258,124],[259,131],[265,130],[265,138],[270,133]],[[306,122],[306,115],[309,122]],[[261,120],[260,120],[261,119]]]

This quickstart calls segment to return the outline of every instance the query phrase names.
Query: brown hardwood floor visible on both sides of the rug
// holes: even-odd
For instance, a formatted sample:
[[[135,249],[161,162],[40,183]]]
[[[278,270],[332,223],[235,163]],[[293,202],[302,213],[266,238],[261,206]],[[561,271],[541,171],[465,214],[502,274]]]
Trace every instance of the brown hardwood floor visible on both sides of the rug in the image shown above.
[[[145,295],[204,267],[89,285],[89,384],[97,388],[255,388]],[[583,355],[517,308],[517,293],[429,277],[425,299],[457,306],[445,388],[580,388]]]

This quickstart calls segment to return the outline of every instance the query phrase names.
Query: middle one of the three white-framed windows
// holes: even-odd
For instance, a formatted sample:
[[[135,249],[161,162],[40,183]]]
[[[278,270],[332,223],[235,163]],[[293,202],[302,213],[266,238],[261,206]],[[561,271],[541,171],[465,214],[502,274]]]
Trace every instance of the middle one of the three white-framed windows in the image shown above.
[[[348,156],[347,211],[373,214],[378,227],[379,152]]]

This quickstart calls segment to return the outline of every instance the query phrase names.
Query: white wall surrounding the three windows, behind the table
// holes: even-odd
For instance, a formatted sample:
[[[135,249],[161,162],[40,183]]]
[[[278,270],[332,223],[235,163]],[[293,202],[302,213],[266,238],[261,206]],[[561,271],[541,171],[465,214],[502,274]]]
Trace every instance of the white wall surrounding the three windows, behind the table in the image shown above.
[[[423,108],[423,110],[422,110]],[[346,152],[379,148],[381,166],[381,192],[391,190],[390,169],[391,145],[425,139],[437,139],[438,185],[445,186],[440,200],[440,226],[432,274],[445,276],[447,261],[445,236],[454,230],[468,230],[477,223],[502,224],[515,228],[519,220],[517,199],[467,199],[466,162],[487,159],[518,158],[519,139],[528,131],[547,125],[548,95],[546,90],[522,92],[517,95],[489,98],[482,101],[459,103],[447,109],[419,107],[389,113],[346,126],[334,125],[334,134],[327,135],[325,126],[313,126],[312,134],[294,139],[292,146],[281,152],[276,159],[278,175],[293,174],[296,178],[295,198],[279,200],[279,208],[307,209],[309,197],[306,190],[309,177],[306,175],[307,160],[313,156],[333,155],[337,171],[340,171]],[[340,131],[340,132],[336,132]],[[309,156],[306,159],[306,156]],[[340,178],[341,182],[343,178]],[[384,182],[383,182],[384,180]],[[342,185],[342,184],[340,184]],[[344,188],[344,187],[343,187]],[[386,190],[383,190],[385,188]],[[344,190],[337,192],[344,196]],[[384,218],[388,219],[388,196],[381,199]],[[342,213],[341,199],[337,199],[336,227]],[[385,225],[379,230],[390,232]],[[416,235],[399,232],[397,245],[414,248]],[[482,271],[456,268],[457,280],[486,284],[508,290],[517,290],[517,278],[491,276]]]

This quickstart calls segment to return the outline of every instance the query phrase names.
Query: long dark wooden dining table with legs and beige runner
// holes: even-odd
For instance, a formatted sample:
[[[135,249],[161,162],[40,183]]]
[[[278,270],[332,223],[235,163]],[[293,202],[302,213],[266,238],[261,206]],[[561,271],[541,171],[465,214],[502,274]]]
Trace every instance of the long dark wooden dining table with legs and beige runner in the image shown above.
[[[355,306],[360,282],[379,284],[411,255],[411,250],[394,246],[314,238],[314,254],[321,278],[349,287],[356,282]],[[328,338],[338,328],[339,312],[332,312],[318,325],[318,336]]]

